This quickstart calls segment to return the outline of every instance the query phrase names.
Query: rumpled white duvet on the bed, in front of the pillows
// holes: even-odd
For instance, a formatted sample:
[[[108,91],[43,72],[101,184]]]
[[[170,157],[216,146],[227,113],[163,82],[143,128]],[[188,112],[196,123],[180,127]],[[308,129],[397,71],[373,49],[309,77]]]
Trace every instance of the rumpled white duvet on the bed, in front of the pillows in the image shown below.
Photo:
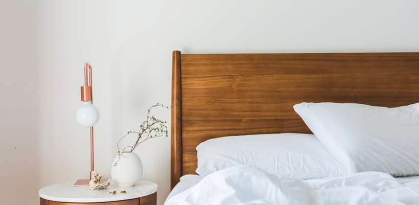
[[[243,165],[206,176],[165,205],[418,205],[419,179],[399,181],[380,172],[298,181]]]

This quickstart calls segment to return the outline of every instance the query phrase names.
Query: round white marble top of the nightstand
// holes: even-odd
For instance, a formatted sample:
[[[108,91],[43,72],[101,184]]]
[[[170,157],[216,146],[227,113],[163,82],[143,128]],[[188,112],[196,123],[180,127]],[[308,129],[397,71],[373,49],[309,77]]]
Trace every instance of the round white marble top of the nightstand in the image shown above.
[[[110,179],[108,188],[95,190],[91,190],[88,186],[74,187],[73,184],[74,182],[64,182],[45,186],[39,190],[39,196],[56,202],[92,203],[135,199],[157,191],[157,184],[143,180],[132,187],[119,187]],[[127,193],[121,194],[123,190]],[[110,195],[111,191],[116,191],[116,194]]]

